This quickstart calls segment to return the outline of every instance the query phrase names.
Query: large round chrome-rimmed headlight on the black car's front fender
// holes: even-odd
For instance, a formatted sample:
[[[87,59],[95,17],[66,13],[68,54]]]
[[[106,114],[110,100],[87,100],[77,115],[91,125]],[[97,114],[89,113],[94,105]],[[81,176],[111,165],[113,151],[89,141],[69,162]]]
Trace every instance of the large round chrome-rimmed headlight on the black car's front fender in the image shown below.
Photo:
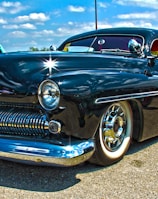
[[[38,88],[38,100],[45,110],[56,109],[60,100],[60,90],[57,84],[51,80],[43,81]]]

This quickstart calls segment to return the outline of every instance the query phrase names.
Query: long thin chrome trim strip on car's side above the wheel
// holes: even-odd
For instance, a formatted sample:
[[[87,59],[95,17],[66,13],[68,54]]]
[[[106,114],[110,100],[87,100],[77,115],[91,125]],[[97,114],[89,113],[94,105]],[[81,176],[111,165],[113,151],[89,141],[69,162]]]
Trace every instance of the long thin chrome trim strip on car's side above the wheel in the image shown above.
[[[95,104],[103,104],[103,103],[108,103],[108,102],[116,102],[116,101],[121,101],[121,100],[137,99],[137,98],[143,98],[143,97],[152,97],[156,95],[158,95],[158,91],[149,91],[149,92],[142,92],[142,93],[132,93],[132,94],[100,97],[95,100]]]

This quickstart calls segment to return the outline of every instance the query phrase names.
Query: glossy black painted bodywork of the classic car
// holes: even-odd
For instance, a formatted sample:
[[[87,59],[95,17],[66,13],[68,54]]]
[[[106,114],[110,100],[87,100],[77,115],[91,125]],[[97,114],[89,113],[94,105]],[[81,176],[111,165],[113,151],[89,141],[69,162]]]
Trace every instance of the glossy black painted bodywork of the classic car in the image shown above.
[[[98,30],[68,39],[59,50],[71,40],[107,33],[141,35],[145,39],[144,45],[149,48],[151,42],[158,37],[158,31],[155,30]],[[130,95],[127,100],[136,117],[134,138],[141,141],[158,132],[157,94],[150,96],[151,91],[158,91],[158,60],[155,58],[151,67],[148,55],[151,55],[150,51],[146,50],[143,57],[119,53],[0,54],[0,103],[19,103],[21,110],[23,106],[31,104],[35,110],[42,111],[50,119],[60,121],[62,132],[66,135],[88,139],[95,134],[102,113],[110,103],[97,104],[96,99]],[[51,67],[48,67],[49,61],[53,63]],[[38,86],[45,79],[55,81],[61,91],[59,107],[51,112],[43,110],[37,99]],[[149,95],[141,97],[144,92],[149,92]],[[134,94],[138,94],[138,97]],[[148,98],[151,99],[150,103],[145,104]]]

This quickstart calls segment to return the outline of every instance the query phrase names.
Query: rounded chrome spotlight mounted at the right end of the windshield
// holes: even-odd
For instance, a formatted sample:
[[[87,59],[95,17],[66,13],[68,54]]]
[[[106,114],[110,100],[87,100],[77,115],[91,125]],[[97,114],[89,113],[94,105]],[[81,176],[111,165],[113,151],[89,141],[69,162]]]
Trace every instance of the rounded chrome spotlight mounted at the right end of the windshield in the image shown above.
[[[142,54],[142,46],[135,39],[130,39],[128,42],[128,49],[132,54],[140,55]]]

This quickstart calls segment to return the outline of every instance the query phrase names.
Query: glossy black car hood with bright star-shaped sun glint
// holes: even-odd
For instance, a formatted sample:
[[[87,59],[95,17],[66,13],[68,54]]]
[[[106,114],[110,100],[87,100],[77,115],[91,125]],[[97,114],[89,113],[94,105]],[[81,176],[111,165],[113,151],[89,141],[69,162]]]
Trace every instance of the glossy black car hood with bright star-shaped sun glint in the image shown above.
[[[127,62],[127,63],[126,63]],[[135,63],[123,56],[94,53],[17,52],[0,55],[0,93],[37,92],[39,84],[60,74],[79,73],[96,69],[120,71],[121,67],[133,70]],[[143,66],[143,63],[140,65]]]

